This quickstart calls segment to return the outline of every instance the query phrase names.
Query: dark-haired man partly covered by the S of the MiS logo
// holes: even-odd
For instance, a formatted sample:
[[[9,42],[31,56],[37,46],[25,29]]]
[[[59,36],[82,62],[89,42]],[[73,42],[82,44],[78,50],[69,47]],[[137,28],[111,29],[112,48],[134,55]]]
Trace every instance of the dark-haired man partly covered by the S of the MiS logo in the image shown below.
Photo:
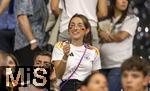
[[[34,67],[41,68],[41,70],[43,68],[51,69],[50,68],[50,66],[51,66],[51,64],[50,64],[50,62],[51,62],[51,53],[50,52],[40,51],[34,56],[33,60],[34,60]],[[37,74],[34,74],[34,75],[37,75]],[[48,72],[47,72],[47,75],[49,75]],[[19,91],[49,91],[50,86],[48,86],[48,85],[50,85],[50,84],[48,82],[50,82],[50,81],[48,81],[48,80],[50,80],[50,78],[51,78],[51,80],[54,80],[55,79],[54,76],[55,75],[53,73],[53,77],[51,75],[49,77],[49,79],[46,79],[47,82],[46,82],[45,86],[37,86],[36,84],[33,84],[33,83],[32,84],[26,83],[28,86],[27,87],[19,87]],[[43,79],[43,78],[41,78],[41,79]]]

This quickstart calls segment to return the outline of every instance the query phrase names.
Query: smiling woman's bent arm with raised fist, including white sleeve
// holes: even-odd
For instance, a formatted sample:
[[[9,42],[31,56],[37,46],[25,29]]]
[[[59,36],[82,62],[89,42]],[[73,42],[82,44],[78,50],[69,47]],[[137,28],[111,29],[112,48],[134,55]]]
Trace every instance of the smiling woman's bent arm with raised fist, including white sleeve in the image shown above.
[[[61,45],[61,47],[60,47]],[[70,44],[57,43],[53,50],[52,62],[54,63],[56,76],[61,78],[66,70]]]

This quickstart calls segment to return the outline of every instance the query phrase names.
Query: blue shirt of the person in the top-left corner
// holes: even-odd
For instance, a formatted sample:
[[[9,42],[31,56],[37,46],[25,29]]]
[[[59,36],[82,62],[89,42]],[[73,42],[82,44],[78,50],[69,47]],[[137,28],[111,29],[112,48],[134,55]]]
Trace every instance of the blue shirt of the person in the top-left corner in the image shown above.
[[[0,3],[2,0],[0,0]],[[11,4],[10,4],[11,5]],[[9,12],[9,7],[0,15],[0,30],[14,29],[16,26],[16,19],[14,13]]]

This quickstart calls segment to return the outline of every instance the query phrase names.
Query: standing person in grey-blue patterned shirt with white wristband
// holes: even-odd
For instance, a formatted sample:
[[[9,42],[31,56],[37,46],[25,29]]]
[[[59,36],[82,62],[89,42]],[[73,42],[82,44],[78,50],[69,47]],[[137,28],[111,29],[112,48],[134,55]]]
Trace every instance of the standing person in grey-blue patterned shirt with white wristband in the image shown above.
[[[15,56],[21,66],[32,66],[36,51],[46,45],[48,10],[44,0],[16,0]]]

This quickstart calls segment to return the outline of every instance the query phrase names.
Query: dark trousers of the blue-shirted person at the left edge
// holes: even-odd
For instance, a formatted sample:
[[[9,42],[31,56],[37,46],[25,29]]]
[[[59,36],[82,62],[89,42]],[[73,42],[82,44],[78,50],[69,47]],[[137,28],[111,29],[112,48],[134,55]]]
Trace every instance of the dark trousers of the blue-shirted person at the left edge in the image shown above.
[[[0,50],[7,53],[12,53],[14,48],[14,29],[2,29],[0,30]]]

